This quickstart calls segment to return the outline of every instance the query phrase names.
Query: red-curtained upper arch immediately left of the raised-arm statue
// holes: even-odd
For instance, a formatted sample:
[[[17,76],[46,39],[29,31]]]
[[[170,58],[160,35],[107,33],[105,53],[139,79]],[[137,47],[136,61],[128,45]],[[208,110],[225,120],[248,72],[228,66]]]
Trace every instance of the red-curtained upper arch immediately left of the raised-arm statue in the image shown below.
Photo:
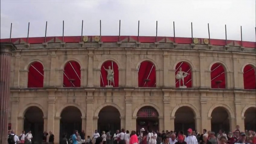
[[[63,87],[81,87],[81,70],[78,62],[66,63],[63,72]]]

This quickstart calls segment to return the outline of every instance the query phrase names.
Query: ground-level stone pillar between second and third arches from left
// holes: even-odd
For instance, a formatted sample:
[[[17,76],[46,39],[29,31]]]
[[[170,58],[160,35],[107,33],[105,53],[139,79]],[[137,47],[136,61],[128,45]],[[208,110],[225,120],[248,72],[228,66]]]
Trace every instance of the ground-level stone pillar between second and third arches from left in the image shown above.
[[[88,70],[89,71],[89,70]],[[86,98],[86,135],[92,135],[93,134],[93,96],[92,92],[87,93]]]

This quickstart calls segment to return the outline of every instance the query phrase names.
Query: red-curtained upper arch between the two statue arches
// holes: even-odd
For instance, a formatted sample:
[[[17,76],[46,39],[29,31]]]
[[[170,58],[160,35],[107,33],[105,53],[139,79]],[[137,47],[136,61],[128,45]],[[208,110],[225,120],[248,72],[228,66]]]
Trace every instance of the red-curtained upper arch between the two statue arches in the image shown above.
[[[150,81],[145,82],[145,79]],[[138,86],[156,87],[156,67],[152,62],[143,61],[138,68]]]

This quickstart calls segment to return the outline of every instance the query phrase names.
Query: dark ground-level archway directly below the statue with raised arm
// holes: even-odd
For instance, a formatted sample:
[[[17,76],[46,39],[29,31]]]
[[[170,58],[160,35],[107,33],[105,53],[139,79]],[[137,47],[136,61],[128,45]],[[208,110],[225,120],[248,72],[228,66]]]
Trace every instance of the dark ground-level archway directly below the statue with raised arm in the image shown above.
[[[120,113],[116,107],[105,106],[99,112],[98,119],[98,132],[111,131],[111,134],[115,133],[117,129],[121,129]]]

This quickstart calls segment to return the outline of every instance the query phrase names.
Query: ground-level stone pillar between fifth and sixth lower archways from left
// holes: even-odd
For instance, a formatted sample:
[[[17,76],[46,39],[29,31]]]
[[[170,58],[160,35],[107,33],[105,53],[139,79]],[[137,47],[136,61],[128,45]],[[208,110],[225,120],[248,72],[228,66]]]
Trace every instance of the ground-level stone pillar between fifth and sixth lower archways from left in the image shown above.
[[[201,129],[197,129],[198,132],[202,133],[203,129],[207,131],[211,130],[211,119],[208,119],[208,110],[207,107],[207,96],[206,93],[200,93],[200,112],[201,112]]]

